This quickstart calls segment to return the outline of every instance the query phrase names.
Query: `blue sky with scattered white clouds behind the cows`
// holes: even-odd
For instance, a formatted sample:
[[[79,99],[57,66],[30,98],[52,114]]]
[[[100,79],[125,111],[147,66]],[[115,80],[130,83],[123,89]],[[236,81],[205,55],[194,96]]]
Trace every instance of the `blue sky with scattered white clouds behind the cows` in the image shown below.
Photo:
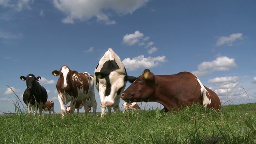
[[[0,112],[14,112],[6,84],[22,100],[19,77],[30,73],[60,112],[51,72],[65,64],[93,74],[108,48],[130,76],[193,72],[222,104],[256,102],[255,8],[254,0],[0,0]],[[97,90],[96,100],[99,112]]]

